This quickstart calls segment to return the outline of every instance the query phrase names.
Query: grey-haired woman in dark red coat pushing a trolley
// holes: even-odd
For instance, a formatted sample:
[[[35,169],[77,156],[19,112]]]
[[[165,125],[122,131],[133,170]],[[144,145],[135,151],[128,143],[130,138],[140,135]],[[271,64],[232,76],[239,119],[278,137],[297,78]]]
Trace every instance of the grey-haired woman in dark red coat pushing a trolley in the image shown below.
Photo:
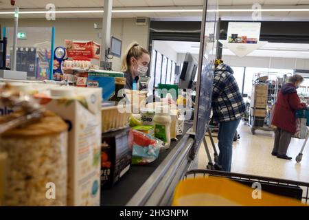
[[[306,104],[301,103],[296,91],[303,81],[302,76],[295,74],[290,77],[288,83],[282,86],[277,96],[271,123],[277,126],[277,129],[275,130],[275,143],[271,154],[280,159],[292,159],[292,157],[286,155],[286,152],[290,139],[296,131],[295,113],[298,109],[306,109]]]

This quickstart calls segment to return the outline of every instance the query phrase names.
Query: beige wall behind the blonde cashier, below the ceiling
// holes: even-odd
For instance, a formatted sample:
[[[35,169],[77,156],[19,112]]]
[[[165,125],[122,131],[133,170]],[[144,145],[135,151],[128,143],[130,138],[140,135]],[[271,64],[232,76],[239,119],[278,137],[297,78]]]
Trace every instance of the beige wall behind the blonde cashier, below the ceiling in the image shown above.
[[[0,19],[0,23],[6,27],[13,27],[12,19]],[[101,43],[98,33],[102,30],[95,30],[93,24],[97,23],[102,27],[102,19],[56,19],[47,21],[45,19],[20,19],[19,27],[55,27],[55,47],[63,46],[65,39],[95,41]],[[126,50],[132,41],[139,42],[148,50],[149,26],[136,25],[135,19],[112,19],[111,35],[122,40],[122,52]],[[44,33],[42,33],[44,35]],[[41,41],[42,39],[38,39]],[[45,41],[50,41],[49,37]],[[36,41],[36,43],[38,43]],[[121,60],[113,58],[113,69],[119,71]]]

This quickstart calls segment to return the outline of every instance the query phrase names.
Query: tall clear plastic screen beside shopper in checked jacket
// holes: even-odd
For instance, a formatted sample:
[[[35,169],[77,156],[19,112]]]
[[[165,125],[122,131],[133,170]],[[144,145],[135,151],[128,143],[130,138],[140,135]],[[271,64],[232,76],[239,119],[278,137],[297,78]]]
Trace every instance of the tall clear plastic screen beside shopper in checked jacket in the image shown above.
[[[218,21],[218,3],[207,0],[204,5],[201,33],[201,49],[198,62],[198,81],[196,83],[196,103],[194,112],[194,153],[203,142],[210,121],[211,98],[214,78],[214,60],[216,59],[215,39]],[[209,11],[210,10],[210,11]]]

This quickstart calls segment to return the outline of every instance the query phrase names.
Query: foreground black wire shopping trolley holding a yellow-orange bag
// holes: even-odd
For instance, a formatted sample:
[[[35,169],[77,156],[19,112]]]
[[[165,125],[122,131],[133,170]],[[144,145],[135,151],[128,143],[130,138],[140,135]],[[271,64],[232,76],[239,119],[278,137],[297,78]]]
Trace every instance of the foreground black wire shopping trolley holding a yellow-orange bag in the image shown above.
[[[217,170],[190,170],[173,206],[306,206],[309,183]]]

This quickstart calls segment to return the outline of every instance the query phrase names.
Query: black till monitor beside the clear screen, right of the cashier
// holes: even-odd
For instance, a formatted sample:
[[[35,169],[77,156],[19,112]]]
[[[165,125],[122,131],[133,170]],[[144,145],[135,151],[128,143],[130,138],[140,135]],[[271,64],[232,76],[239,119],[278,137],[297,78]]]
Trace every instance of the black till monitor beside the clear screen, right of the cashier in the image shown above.
[[[179,85],[178,85],[179,88],[192,89],[197,67],[198,63],[194,59],[192,54],[190,53],[185,54],[183,69],[181,69],[181,74],[179,76]]]

